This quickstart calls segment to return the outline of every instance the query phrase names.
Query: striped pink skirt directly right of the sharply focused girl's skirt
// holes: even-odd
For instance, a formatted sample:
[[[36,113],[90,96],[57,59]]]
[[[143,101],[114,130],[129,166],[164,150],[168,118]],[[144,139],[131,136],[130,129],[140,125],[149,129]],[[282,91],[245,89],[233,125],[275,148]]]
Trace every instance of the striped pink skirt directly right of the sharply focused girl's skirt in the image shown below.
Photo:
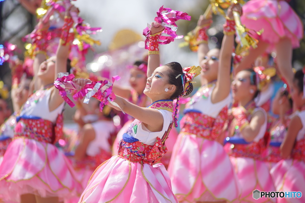
[[[179,202],[237,200],[238,179],[221,144],[181,132],[168,173]]]

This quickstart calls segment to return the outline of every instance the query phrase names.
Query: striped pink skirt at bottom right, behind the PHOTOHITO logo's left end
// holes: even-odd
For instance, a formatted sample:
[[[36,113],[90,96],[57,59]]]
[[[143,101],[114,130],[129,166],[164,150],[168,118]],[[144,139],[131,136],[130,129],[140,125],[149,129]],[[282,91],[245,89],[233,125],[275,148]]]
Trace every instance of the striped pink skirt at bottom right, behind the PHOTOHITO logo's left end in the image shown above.
[[[242,188],[241,197],[237,202],[267,203],[276,202],[275,198],[253,198],[253,191],[276,191],[269,168],[263,161],[246,157],[230,157]]]

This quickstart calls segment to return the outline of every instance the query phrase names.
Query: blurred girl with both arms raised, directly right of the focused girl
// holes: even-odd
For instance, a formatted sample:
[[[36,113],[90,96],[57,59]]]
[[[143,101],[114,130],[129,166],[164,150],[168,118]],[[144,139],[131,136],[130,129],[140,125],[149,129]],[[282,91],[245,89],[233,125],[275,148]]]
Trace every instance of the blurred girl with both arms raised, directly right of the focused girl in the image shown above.
[[[232,9],[241,12],[239,4],[231,5],[229,18],[232,18]],[[180,202],[231,202],[240,195],[229,156],[217,142],[230,103],[230,60],[235,23],[227,20],[224,25],[221,51],[209,51],[206,22],[202,16],[198,21],[198,26],[203,27],[199,31],[202,43],[198,51],[202,87],[186,105],[182,130],[168,168],[173,192]]]

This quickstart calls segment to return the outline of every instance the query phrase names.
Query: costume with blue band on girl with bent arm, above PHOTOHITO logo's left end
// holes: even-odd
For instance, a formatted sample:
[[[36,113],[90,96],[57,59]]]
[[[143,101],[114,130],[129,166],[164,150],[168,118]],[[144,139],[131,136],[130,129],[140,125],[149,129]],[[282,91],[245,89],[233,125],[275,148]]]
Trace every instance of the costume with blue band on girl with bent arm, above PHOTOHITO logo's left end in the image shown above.
[[[257,111],[264,113],[265,122],[253,142],[246,142],[240,131]],[[235,202],[276,202],[274,198],[253,198],[255,190],[275,191],[268,166],[261,161],[261,157],[266,155],[268,145],[265,138],[267,114],[264,109],[256,107],[254,101],[249,104],[247,110],[244,107],[236,107],[232,112],[234,118],[229,126],[231,137],[226,138],[224,149],[235,167],[242,189],[240,198]]]

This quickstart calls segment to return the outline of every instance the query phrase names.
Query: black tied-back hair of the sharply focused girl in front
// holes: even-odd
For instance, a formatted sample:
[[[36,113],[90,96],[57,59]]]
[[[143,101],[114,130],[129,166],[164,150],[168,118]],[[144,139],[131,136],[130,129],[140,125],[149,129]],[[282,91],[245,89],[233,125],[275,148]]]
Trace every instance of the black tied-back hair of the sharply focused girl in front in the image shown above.
[[[169,68],[169,71],[167,74],[168,83],[176,86],[176,91],[170,97],[170,99],[173,100],[173,99],[178,98],[183,93],[183,90],[184,90],[184,86],[182,84],[182,77],[179,76],[178,78],[176,78],[180,74],[183,76],[182,66],[178,62],[170,62],[170,63],[166,64],[165,66],[167,66]],[[192,83],[190,83],[190,86],[188,89],[190,91],[188,91],[188,93],[184,96],[187,96],[189,93],[192,92],[192,90],[193,90]]]

